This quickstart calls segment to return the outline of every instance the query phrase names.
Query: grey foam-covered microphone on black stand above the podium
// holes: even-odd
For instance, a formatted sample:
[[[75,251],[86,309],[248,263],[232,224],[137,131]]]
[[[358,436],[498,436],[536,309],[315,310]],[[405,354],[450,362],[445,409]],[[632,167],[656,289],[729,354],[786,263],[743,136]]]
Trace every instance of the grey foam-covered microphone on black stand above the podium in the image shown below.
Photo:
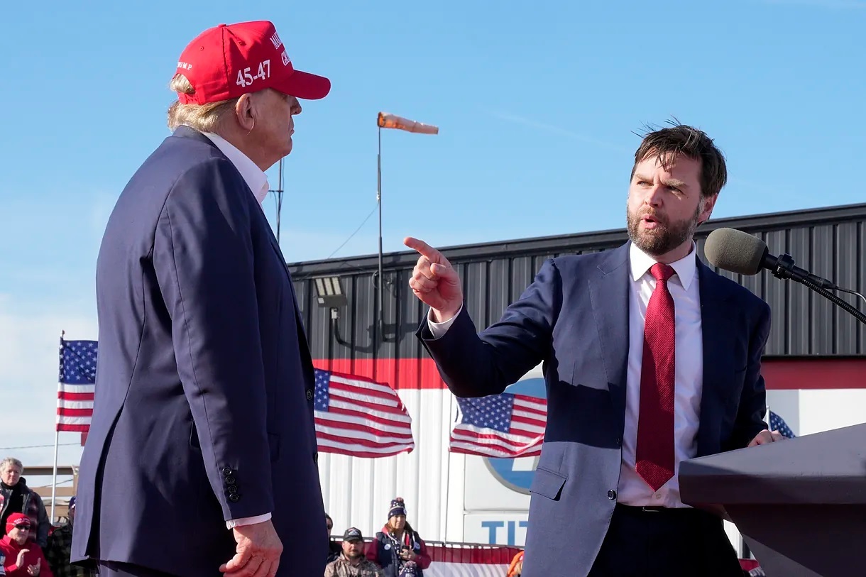
[[[704,254],[713,266],[740,275],[757,275],[760,269],[767,269],[777,278],[839,289],[835,283],[794,266],[791,255],[771,255],[764,241],[742,230],[716,229],[709,233]]]

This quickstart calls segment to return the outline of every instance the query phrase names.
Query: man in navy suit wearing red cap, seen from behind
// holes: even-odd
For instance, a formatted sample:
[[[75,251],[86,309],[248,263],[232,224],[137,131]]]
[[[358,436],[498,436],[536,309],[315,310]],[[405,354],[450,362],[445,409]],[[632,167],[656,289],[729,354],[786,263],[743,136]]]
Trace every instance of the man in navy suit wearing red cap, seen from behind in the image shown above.
[[[102,575],[323,574],[313,365],[261,203],[298,99],[330,87],[294,70],[269,22],[221,24],[180,56],[174,133],[100,248],[74,561]],[[281,564],[287,543],[298,550]]]

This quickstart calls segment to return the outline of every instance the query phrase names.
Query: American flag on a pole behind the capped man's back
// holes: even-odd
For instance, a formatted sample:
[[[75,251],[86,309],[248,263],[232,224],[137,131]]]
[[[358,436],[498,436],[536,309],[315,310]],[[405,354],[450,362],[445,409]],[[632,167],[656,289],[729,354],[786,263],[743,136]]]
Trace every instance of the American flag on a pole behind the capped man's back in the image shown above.
[[[90,430],[96,382],[95,340],[60,340],[57,431]]]

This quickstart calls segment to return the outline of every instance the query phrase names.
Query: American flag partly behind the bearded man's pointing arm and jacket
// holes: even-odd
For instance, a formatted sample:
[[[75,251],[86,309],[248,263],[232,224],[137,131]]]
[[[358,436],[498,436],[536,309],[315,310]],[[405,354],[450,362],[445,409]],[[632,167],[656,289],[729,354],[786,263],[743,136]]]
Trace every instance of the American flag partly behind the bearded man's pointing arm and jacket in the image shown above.
[[[450,451],[482,457],[537,457],[544,443],[547,401],[503,392],[457,399],[461,417],[451,431]]]

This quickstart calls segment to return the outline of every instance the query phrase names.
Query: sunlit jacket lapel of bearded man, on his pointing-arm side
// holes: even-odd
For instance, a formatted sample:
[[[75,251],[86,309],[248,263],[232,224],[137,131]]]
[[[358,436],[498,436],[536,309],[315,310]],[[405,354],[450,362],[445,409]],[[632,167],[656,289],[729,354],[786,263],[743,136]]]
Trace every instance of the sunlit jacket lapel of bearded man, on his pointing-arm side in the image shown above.
[[[625,422],[625,382],[629,357],[629,246],[611,250],[591,277],[590,298],[598,327],[604,370],[611,391],[617,431]]]

